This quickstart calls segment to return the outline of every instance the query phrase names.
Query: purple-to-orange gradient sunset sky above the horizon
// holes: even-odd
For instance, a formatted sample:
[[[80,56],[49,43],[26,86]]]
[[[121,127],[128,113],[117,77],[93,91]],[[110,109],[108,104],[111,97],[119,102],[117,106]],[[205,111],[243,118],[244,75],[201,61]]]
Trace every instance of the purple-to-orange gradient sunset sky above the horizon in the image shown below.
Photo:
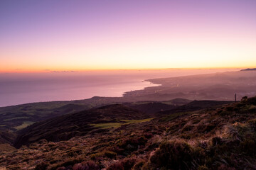
[[[0,1],[0,72],[256,67],[255,0]]]

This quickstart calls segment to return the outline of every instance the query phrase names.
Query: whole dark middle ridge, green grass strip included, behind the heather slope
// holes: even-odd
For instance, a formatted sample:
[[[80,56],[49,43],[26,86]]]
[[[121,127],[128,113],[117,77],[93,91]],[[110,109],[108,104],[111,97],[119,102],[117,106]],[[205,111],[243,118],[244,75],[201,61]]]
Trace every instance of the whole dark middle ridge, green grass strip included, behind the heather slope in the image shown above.
[[[103,132],[108,127],[117,127],[132,120],[138,121],[146,118],[161,117],[170,113],[197,111],[202,108],[219,106],[225,103],[230,103],[230,101],[192,101],[181,106],[160,102],[126,103],[129,107],[120,104],[102,106],[79,113],[62,115],[30,125],[18,131],[18,138],[14,146],[21,147],[22,145],[29,145],[43,139],[52,142],[69,140],[75,136]],[[100,129],[102,127],[104,129]]]

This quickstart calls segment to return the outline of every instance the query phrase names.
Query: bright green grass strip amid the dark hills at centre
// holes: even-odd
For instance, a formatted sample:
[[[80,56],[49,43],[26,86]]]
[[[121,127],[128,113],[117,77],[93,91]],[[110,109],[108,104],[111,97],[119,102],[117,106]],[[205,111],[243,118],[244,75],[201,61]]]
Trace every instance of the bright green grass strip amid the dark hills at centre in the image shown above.
[[[124,123],[97,123],[97,124],[90,124],[94,126],[95,128],[102,128],[102,129],[107,129],[107,128],[119,128],[121,125],[127,125],[127,124],[132,124],[132,123],[144,123],[152,120],[154,118],[148,118],[148,119],[140,119],[140,120],[121,120]]]

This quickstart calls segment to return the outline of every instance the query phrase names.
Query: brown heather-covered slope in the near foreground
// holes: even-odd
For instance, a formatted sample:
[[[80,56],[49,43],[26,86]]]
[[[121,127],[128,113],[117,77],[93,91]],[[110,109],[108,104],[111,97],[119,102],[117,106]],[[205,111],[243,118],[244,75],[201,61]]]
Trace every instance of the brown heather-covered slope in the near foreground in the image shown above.
[[[152,120],[129,120],[129,123],[114,127],[107,126],[110,122],[94,122],[93,126],[101,132],[60,142],[40,140],[28,147],[2,152],[0,167],[59,170],[256,169],[256,97],[244,98],[238,103],[219,104],[196,111],[169,111]],[[108,117],[145,118],[143,114],[142,117],[133,115],[138,111],[121,105],[98,108],[95,113],[100,109],[102,113],[108,113],[119,108],[131,111],[130,117],[112,111]],[[78,119],[80,116],[72,116],[68,122],[70,125],[73,121],[82,122]],[[43,135],[43,131],[40,133]]]

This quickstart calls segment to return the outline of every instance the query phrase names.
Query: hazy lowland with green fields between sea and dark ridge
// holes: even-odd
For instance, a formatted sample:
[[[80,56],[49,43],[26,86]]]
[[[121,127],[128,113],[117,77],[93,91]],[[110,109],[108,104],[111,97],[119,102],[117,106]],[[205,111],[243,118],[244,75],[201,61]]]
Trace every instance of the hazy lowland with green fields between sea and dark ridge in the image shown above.
[[[78,113],[87,109],[97,108],[114,103],[127,103],[129,106],[152,102],[149,98],[122,98],[122,97],[93,97],[78,101],[51,101],[39,103],[27,103],[17,106],[0,108],[0,131],[16,132],[33,123],[54,118],[60,115]],[[170,99],[170,98],[169,98]],[[154,101],[163,101],[155,97]],[[139,103],[137,103],[139,102]],[[189,103],[189,100],[175,98],[164,101],[167,106],[181,106]]]

